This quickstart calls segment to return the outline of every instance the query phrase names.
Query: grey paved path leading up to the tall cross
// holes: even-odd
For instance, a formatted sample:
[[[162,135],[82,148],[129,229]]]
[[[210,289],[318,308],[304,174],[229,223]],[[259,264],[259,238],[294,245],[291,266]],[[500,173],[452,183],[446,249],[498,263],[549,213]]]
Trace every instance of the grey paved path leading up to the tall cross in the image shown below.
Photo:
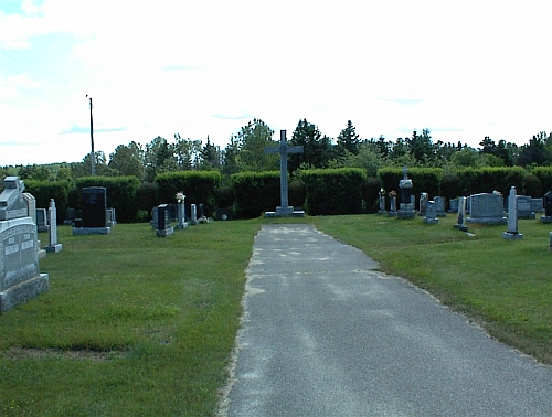
[[[551,416],[552,368],[310,225],[265,225],[227,416]]]

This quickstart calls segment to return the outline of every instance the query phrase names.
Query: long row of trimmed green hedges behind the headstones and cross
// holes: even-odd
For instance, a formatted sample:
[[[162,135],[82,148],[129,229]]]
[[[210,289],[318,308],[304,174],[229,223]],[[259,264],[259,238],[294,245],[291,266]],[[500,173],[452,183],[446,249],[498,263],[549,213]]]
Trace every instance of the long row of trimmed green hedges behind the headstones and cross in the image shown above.
[[[289,182],[289,205],[301,206],[309,215],[373,213],[380,189],[386,193],[399,192],[402,178],[399,168],[382,168],[378,178],[367,178],[364,170],[355,168],[305,170]],[[427,192],[429,197],[442,195],[448,200],[495,190],[507,195],[511,186],[516,186],[518,194],[533,197],[552,190],[552,167],[532,171],[520,167],[463,169],[446,173],[437,168],[413,168],[408,170],[408,178],[414,195]],[[179,191],[187,195],[188,205],[202,203],[208,216],[216,209],[225,209],[235,217],[251,218],[280,204],[278,171],[237,173],[224,186],[221,186],[219,171],[163,173],[156,177],[153,184],[140,184],[135,177],[87,177],[74,185],[66,181],[31,180],[25,180],[25,185],[35,196],[38,207],[46,209],[50,199],[55,200],[60,222],[67,207],[81,209],[84,186],[105,186],[107,204],[116,210],[117,221],[121,223],[136,222],[139,211],[149,213],[160,203],[174,202]]]

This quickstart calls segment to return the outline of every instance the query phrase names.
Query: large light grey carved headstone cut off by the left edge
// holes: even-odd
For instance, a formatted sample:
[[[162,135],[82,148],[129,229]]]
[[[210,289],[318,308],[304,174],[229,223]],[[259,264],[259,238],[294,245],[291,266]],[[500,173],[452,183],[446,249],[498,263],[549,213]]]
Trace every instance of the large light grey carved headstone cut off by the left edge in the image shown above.
[[[0,312],[47,291],[49,275],[40,274],[36,224],[28,215],[18,177],[4,179],[0,194]]]

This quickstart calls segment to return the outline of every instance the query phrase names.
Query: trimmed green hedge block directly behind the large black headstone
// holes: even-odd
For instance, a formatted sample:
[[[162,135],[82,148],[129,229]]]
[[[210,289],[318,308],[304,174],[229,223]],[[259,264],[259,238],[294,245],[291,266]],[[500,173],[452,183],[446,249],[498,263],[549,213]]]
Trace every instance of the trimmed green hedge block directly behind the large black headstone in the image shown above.
[[[85,186],[105,186],[107,189],[107,206],[115,209],[118,223],[136,222],[138,206],[136,192],[140,180],[134,175],[127,177],[83,177],[76,181],[76,189]],[[81,204],[81,201],[78,201]],[[82,209],[78,205],[79,209]]]

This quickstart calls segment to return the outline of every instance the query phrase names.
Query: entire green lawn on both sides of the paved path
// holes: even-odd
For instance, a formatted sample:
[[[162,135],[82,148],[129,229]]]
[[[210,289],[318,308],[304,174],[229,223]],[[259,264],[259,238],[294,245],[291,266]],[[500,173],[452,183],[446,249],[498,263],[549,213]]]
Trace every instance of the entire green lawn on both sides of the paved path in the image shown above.
[[[307,217],[552,364],[552,226],[453,227],[456,216]],[[226,378],[253,239],[263,223],[215,222],[156,237],[147,224],[72,236],[41,260],[51,289],[0,316],[2,416],[209,416]],[[46,236],[41,234],[45,239]],[[415,312],[413,312],[415,313]]]

